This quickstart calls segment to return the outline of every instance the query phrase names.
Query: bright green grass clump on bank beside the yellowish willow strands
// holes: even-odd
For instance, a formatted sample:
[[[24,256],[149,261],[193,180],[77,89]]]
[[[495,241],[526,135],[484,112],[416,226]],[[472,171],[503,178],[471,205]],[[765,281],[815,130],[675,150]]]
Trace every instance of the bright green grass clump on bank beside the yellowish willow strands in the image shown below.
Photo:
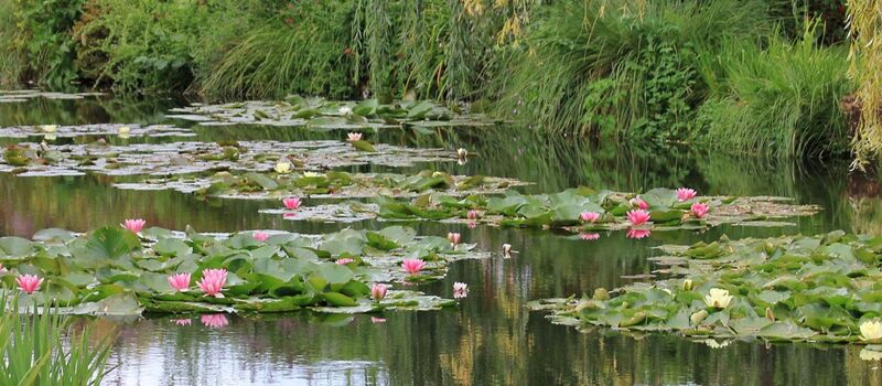
[[[849,151],[842,98],[854,89],[843,47],[820,47],[814,34],[765,49],[730,42],[719,54],[727,89],[699,111],[695,139],[727,152],[785,158]]]

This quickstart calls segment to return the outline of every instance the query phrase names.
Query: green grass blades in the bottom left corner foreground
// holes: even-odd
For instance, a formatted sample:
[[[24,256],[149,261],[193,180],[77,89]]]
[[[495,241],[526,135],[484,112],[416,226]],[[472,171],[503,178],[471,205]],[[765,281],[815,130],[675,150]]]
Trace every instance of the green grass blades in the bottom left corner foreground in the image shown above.
[[[92,326],[77,331],[54,311],[22,314],[13,300],[0,315],[0,386],[99,385],[112,340],[94,337]]]

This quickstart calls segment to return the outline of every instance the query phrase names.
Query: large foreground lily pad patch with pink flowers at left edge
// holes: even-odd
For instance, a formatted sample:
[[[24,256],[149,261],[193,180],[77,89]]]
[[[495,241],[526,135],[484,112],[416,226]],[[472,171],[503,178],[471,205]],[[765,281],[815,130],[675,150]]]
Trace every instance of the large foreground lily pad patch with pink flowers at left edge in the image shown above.
[[[34,242],[2,237],[0,283],[24,292],[22,305],[54,304],[73,314],[431,310],[455,301],[387,292],[380,283],[440,279],[450,261],[488,256],[400,226],[321,236],[141,232],[143,221],[123,226],[85,235],[45,229]],[[402,261],[420,267],[406,271]]]

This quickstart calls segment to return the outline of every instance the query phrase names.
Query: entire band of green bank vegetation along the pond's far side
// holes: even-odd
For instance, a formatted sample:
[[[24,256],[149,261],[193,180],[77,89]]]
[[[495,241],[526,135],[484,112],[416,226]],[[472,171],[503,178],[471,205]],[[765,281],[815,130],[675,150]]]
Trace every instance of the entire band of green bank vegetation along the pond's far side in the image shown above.
[[[540,132],[781,158],[848,158],[852,141],[862,154],[878,137],[852,135],[867,117],[849,101],[859,89],[865,99],[871,79],[849,77],[843,0],[0,0],[0,10],[7,85],[469,101]],[[862,63],[871,51],[852,54]]]

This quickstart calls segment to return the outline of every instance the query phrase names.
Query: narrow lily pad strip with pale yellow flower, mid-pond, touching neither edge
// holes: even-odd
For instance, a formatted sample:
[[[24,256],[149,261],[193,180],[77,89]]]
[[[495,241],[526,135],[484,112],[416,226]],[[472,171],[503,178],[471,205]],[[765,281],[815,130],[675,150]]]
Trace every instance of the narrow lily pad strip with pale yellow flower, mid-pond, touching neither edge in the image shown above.
[[[423,170],[417,174],[396,173],[269,173],[248,172],[234,175],[219,172],[208,178],[168,178],[138,183],[118,183],[115,186],[133,190],[172,189],[195,193],[202,197],[270,200],[290,195],[319,199],[416,196],[426,192],[445,192],[464,196],[477,193],[502,193],[510,186],[526,183],[483,175],[451,175],[441,171]]]

